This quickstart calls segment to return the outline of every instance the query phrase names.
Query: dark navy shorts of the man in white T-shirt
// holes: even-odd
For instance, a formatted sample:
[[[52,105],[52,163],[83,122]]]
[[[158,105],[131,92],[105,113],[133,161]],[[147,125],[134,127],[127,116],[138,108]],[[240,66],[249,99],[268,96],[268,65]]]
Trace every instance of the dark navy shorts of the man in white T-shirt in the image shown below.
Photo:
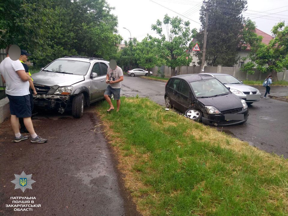
[[[11,96],[9,99],[10,113],[17,118],[31,117],[30,95]]]

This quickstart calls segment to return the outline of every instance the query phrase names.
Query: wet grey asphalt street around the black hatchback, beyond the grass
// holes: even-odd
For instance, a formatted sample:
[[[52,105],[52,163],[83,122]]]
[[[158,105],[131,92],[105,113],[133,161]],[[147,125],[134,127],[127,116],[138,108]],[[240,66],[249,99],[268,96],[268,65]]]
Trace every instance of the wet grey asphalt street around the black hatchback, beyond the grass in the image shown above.
[[[258,88],[262,95],[265,94],[264,87],[254,87]],[[288,87],[272,86],[270,92],[285,91],[288,91]],[[122,95],[148,97],[163,106],[164,93],[165,82],[140,77],[125,76],[121,88]],[[249,105],[248,109],[247,122],[242,125],[217,127],[217,130],[246,141],[251,146],[288,158],[288,103],[261,98],[260,101]]]

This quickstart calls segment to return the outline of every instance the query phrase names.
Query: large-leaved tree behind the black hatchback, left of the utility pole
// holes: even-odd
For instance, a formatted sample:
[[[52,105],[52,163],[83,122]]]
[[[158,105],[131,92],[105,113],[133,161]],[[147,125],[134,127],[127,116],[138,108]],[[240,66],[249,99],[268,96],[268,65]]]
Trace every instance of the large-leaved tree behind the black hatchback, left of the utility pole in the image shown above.
[[[167,38],[162,29],[162,24],[166,27]],[[169,25],[171,27],[169,27]],[[156,24],[152,25],[152,30],[160,36],[157,41],[160,53],[168,67],[171,67],[171,76],[175,75],[175,68],[181,65],[189,65],[192,61],[190,53],[187,52],[188,45],[195,36],[196,29],[190,31],[190,22],[183,22],[178,16],[170,18],[167,14],[164,16],[163,23],[158,19]]]

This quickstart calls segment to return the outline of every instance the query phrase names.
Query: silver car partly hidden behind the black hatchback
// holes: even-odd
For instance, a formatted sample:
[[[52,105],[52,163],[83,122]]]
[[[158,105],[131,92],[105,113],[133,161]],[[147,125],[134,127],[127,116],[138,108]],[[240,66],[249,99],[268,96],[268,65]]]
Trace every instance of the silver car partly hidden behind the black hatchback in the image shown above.
[[[250,85],[245,85],[234,76],[224,73],[202,73],[215,77],[222,82],[230,91],[237,95],[239,98],[246,101],[247,104],[252,104],[260,100],[261,93],[257,88]]]

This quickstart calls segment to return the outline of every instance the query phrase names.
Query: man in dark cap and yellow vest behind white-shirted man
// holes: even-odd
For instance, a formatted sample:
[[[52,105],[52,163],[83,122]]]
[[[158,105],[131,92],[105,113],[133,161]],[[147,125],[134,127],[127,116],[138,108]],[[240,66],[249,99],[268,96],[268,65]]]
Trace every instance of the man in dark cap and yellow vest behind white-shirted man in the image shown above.
[[[26,64],[26,61],[28,60],[28,56],[30,56],[31,54],[26,52],[24,49],[21,49],[21,55],[19,60],[21,61],[25,72],[27,74],[29,74],[29,76],[31,77],[31,73],[29,72],[29,67]],[[30,105],[31,105],[31,113],[32,110],[34,108],[34,100],[33,100],[33,94],[37,95],[37,92],[35,90],[35,87],[33,85],[33,79],[31,77],[31,79],[29,80],[29,92],[30,92]],[[23,118],[19,118],[19,123],[20,123],[20,133],[29,133],[28,130],[26,129],[25,125],[24,125],[24,121]]]

